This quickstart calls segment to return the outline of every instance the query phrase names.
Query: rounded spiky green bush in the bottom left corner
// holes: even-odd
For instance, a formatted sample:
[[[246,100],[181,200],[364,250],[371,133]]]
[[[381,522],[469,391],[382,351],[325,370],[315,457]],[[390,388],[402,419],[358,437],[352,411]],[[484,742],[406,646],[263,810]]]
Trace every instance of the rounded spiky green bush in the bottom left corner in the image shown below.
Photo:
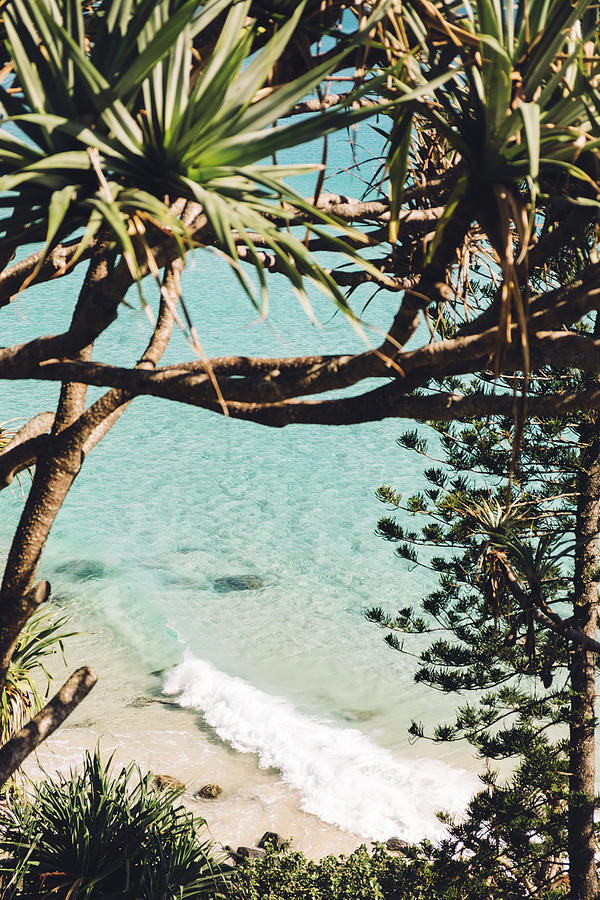
[[[2,809],[3,884],[24,900],[224,896],[224,867],[198,838],[203,820],[177,804],[181,791],[157,791],[133,763],[115,775],[111,760],[88,753],[81,773]]]

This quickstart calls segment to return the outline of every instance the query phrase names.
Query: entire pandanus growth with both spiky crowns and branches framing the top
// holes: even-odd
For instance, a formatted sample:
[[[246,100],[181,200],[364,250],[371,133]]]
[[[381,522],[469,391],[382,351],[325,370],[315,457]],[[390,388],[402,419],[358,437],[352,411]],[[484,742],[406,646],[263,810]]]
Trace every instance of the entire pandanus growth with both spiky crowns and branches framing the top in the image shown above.
[[[61,504],[137,396],[271,426],[504,414],[516,416],[515,447],[527,415],[600,407],[591,376],[528,390],[541,367],[598,369],[598,337],[578,326],[600,303],[594,10],[590,0],[6,0],[0,304],[87,271],[63,333],[0,349],[0,377],[61,384],[56,411],[0,453],[3,485],[35,466],[0,588],[0,679],[49,595],[35,578]],[[352,90],[330,95],[333,72]],[[384,158],[364,197],[323,194],[319,177],[306,200],[284,181],[298,167],[265,161],[376,113]],[[385,289],[384,339],[365,338],[360,353],[207,359],[180,290],[196,248],[224,254],[262,312],[271,272],[307,308],[307,286],[323,290],[359,329],[347,289]],[[93,359],[145,276],[160,299],[150,309],[141,291],[153,327],[138,362]],[[191,359],[160,366],[176,324]],[[485,376],[476,390],[451,380],[467,373]],[[490,390],[500,374],[519,375],[513,389]],[[108,390],[88,405],[87,385]],[[80,672],[0,751],[2,777],[93,680]]]

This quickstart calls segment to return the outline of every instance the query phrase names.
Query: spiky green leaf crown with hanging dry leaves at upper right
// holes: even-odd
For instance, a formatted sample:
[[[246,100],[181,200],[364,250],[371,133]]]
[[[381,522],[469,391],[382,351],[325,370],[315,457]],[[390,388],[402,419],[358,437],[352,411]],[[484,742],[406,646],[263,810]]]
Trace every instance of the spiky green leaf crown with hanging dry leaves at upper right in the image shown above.
[[[594,7],[591,0],[476,0],[449,4],[444,21],[450,36],[450,28],[460,26],[472,41],[461,46],[447,36],[440,50],[428,48],[426,61],[416,52],[406,63],[415,84],[432,84],[448,69],[454,77],[435,87],[433,100],[414,100],[397,113],[389,157],[392,207],[397,216],[408,135],[417,123],[441,136],[441,152],[462,173],[453,200],[467,194],[485,198],[478,204],[480,210],[487,204],[480,224],[500,260],[510,262],[507,220],[513,219],[524,253],[540,191],[563,193],[569,178],[579,184],[581,202],[590,202],[590,188],[597,193],[581,164],[582,152],[595,151],[600,137],[600,66],[589,56],[597,35]],[[404,82],[397,89],[406,90]],[[430,255],[452,218],[440,222]]]

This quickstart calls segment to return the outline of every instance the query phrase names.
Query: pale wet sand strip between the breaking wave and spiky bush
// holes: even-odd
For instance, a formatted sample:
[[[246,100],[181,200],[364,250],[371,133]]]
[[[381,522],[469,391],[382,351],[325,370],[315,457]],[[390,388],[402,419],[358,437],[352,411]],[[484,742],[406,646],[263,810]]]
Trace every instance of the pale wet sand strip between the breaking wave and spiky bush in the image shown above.
[[[71,671],[84,663],[97,668],[98,684],[42,745],[37,759],[30,758],[27,775],[39,777],[39,766],[49,775],[66,773],[99,743],[105,758],[115,751],[115,766],[135,760],[143,771],[183,781],[186,805],[206,819],[210,835],[220,844],[254,846],[265,831],[276,831],[314,859],[368,844],[358,834],[305,813],[299,795],[278,772],[259,769],[255,756],[230,749],[197,712],[157,701],[138,706],[140,698],[156,696],[160,688],[160,678],[140,676],[139,660],[90,638],[71,638],[67,657]],[[66,670],[62,665],[52,668],[58,686]],[[207,783],[220,785],[222,795],[194,800],[193,793]]]

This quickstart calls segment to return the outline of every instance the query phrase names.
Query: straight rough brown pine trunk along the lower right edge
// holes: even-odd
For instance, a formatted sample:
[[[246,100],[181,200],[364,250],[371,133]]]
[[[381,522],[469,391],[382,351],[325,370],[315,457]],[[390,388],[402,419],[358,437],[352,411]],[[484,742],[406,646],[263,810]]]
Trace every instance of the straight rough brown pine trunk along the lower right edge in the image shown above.
[[[580,429],[586,446],[581,451],[577,479],[574,619],[589,637],[596,637],[598,619],[598,504],[600,497],[600,438],[597,417]],[[569,879],[571,900],[598,897],[595,797],[596,654],[575,647],[571,656],[571,724],[569,782]]]

